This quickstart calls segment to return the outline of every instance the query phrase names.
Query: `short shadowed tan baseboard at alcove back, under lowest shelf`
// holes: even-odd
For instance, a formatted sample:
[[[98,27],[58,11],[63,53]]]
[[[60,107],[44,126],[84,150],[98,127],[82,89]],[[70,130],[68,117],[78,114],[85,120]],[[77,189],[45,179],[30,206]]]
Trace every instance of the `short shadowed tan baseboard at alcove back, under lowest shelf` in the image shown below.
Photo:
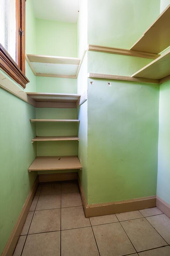
[[[39,182],[77,180],[77,172],[39,174]]]

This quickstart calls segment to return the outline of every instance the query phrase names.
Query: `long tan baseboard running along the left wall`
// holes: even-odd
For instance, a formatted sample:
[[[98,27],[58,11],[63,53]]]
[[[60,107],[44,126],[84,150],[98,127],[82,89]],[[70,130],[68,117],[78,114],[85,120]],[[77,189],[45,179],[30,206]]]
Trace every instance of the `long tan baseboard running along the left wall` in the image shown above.
[[[7,244],[5,245],[4,251],[3,251],[1,256],[12,256],[13,255],[13,252],[15,250],[16,244],[18,242],[19,236],[20,236],[22,228],[24,226],[24,222],[26,220],[28,211],[29,211],[30,206],[32,204],[33,197],[35,195],[38,184],[39,184],[39,180],[38,180],[38,176],[37,176],[35,181],[34,181],[34,184],[33,184],[32,188],[31,188],[30,193],[26,198],[26,202],[23,205],[23,208],[22,208],[22,210],[19,214],[18,220],[17,220],[17,222],[16,222],[16,224],[15,224],[15,226],[14,226],[12,232],[11,232],[11,235],[8,239]]]

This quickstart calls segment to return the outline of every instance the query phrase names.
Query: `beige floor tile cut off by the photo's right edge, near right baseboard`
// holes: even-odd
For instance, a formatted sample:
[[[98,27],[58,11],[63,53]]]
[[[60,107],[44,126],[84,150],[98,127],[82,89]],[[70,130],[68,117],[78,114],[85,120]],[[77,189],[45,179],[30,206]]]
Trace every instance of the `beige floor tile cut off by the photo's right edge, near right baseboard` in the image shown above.
[[[170,244],[170,219],[165,215],[155,215],[146,218],[158,233]]]

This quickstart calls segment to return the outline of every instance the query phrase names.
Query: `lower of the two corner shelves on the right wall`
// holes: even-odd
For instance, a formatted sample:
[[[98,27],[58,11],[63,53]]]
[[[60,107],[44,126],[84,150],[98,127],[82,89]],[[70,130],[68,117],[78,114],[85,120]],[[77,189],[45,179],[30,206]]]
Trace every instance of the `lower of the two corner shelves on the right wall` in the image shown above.
[[[141,68],[132,77],[162,79],[170,75],[170,51],[165,52],[150,64]]]

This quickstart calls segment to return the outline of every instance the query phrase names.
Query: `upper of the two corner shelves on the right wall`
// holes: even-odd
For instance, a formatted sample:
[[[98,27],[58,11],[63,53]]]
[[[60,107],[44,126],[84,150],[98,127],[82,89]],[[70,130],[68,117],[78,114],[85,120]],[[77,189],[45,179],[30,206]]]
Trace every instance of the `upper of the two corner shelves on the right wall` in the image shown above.
[[[170,4],[130,50],[159,53],[170,45]]]

